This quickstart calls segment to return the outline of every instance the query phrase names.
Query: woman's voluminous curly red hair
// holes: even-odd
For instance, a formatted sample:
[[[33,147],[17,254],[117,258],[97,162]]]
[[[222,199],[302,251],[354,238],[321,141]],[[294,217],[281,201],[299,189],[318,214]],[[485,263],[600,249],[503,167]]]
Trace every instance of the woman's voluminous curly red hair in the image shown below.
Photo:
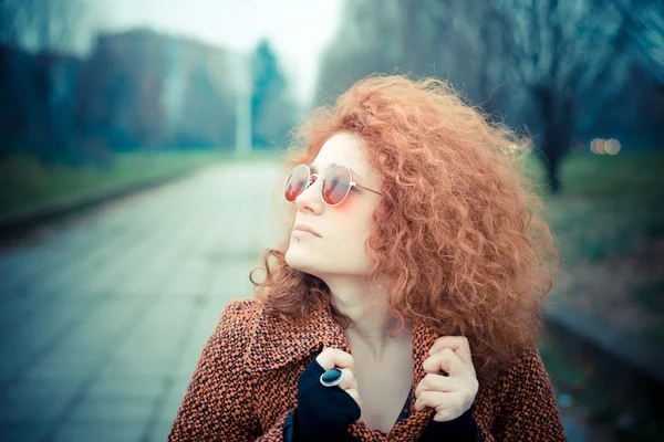
[[[402,327],[419,319],[443,336],[466,336],[478,378],[496,379],[537,345],[560,264],[538,185],[525,173],[530,140],[444,81],[373,76],[314,110],[286,165],[312,162],[342,131],[362,140],[383,180],[365,243],[375,262],[367,281],[391,281],[387,301]],[[347,326],[325,283],[286,263],[288,246],[287,239],[266,251],[262,282],[252,271],[257,298],[289,322],[324,307]]]

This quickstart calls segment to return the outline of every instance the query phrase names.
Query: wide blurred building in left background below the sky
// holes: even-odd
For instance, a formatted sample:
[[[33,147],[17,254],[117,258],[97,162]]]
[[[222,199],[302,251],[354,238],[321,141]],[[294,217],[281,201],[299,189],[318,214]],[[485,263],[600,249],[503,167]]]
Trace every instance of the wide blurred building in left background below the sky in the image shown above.
[[[77,95],[82,134],[116,149],[235,140],[237,55],[148,30],[101,35]]]

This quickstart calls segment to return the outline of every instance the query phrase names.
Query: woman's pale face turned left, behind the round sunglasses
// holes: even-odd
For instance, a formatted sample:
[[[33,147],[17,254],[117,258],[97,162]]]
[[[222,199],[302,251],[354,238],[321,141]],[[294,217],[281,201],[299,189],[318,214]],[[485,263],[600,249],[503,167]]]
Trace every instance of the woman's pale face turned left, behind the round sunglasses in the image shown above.
[[[373,263],[364,242],[372,231],[372,214],[381,196],[353,187],[339,206],[326,206],[321,199],[323,177],[330,165],[351,168],[353,181],[381,191],[381,179],[364,158],[364,147],[349,133],[336,134],[321,148],[312,162],[313,183],[295,199],[297,224],[305,224],[319,235],[294,231],[286,262],[293,269],[324,278],[325,275],[364,276]]]

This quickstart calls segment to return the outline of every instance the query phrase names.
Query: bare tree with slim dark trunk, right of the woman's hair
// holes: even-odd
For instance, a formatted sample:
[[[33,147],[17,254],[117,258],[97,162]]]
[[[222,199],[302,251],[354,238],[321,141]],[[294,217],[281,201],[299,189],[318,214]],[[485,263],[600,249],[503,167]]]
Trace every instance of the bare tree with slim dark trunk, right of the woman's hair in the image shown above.
[[[527,92],[529,119],[541,129],[540,151],[556,192],[580,106],[594,103],[598,109],[609,99],[608,86],[626,70],[625,15],[592,0],[496,0],[487,8],[500,30],[506,82]]]

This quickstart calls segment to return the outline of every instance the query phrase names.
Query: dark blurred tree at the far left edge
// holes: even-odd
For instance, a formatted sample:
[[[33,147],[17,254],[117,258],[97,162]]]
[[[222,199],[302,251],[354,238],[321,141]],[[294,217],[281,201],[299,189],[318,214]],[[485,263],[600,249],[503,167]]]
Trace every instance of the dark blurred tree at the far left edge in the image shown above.
[[[17,97],[3,106],[13,119],[15,146],[29,146],[42,161],[70,155],[73,92],[81,61],[71,56],[83,42],[82,0],[2,0],[2,94]],[[7,133],[4,127],[1,131]],[[2,134],[4,135],[4,134]],[[6,147],[9,154],[13,146]],[[58,158],[59,157],[59,158]]]

